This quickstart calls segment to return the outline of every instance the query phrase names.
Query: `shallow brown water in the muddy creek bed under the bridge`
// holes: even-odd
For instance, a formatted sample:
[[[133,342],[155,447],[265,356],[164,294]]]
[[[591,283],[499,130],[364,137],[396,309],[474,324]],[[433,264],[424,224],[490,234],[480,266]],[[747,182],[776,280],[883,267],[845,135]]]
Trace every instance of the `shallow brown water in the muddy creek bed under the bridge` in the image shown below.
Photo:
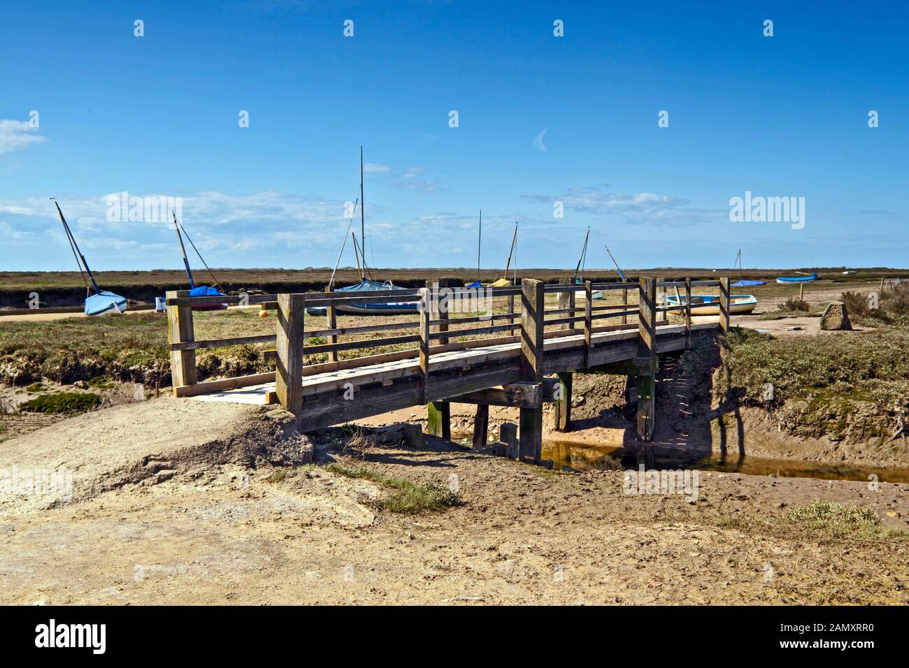
[[[819,478],[822,480],[861,480],[876,475],[879,482],[909,483],[909,468],[885,468],[856,464],[824,464],[789,459],[772,459],[737,455],[722,459],[704,457],[668,448],[646,448],[635,451],[627,447],[604,447],[551,441],[543,444],[543,458],[551,459],[554,468],[579,471],[618,471],[644,464],[648,469],[696,468],[718,473],[778,475],[781,478]]]

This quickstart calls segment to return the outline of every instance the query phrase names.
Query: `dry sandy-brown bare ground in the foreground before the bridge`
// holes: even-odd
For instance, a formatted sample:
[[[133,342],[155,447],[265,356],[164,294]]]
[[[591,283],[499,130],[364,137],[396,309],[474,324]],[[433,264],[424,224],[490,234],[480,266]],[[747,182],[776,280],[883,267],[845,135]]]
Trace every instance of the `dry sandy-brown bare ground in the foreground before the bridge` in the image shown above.
[[[909,543],[785,518],[822,498],[902,525],[909,485],[702,474],[686,503],[430,438],[365,465],[463,504],[397,515],[370,502],[375,484],[323,468],[359,460],[320,442],[317,465],[294,466],[306,446],[286,426],[280,410],[162,398],[0,445],[0,470],[75,483],[69,503],[0,495],[0,602],[909,603]]]

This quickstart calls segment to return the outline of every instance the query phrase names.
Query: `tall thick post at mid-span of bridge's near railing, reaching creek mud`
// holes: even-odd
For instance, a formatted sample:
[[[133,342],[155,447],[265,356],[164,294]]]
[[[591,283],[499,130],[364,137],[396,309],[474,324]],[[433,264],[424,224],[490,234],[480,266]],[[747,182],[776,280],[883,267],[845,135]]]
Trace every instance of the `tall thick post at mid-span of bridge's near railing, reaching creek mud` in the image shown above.
[[[543,382],[544,283],[532,278],[521,281],[521,378]],[[543,458],[543,403],[521,407],[520,457],[527,464]]]

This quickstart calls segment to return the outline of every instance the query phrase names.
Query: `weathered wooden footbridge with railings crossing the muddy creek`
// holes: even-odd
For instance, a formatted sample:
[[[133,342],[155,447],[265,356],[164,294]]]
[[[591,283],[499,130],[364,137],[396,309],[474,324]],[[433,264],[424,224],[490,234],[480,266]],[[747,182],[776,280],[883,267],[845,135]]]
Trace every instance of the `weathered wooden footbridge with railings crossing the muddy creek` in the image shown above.
[[[714,322],[692,324],[693,287],[719,288],[720,314]],[[684,294],[684,305],[662,305],[664,300],[657,295],[669,289]],[[622,291],[620,304],[597,305],[592,298],[595,292],[612,290]],[[557,308],[545,308],[546,294],[558,295]],[[506,313],[493,314],[493,302],[503,298]],[[520,300],[519,309],[515,299]],[[193,307],[225,302],[275,309],[275,334],[195,340]],[[418,302],[417,316],[406,323],[337,325],[341,306],[387,302]],[[501,288],[432,285],[369,293],[245,297],[194,298],[186,292],[169,292],[166,304],[176,396],[219,393],[226,401],[244,401],[251,394],[260,395],[260,403],[280,403],[295,414],[304,431],[426,405],[430,431],[446,438],[450,437],[449,404],[476,404],[474,444],[486,443],[490,405],[516,406],[520,408],[520,458],[535,463],[542,450],[544,402],[555,403],[556,429],[571,428],[574,373],[637,376],[637,438],[650,441],[657,356],[684,350],[704,334],[726,331],[729,302],[728,278],[684,282],[641,278],[637,284],[544,284],[524,279],[520,286]],[[485,305],[485,315],[454,316],[476,313],[478,304]],[[305,309],[320,306],[326,309],[326,327],[305,331]],[[672,311],[684,314],[684,323],[669,324],[667,314]],[[621,322],[616,323],[619,318]],[[615,324],[597,323],[606,319]],[[359,338],[402,330],[415,332]],[[345,335],[354,335],[355,340],[338,343],[338,337]],[[314,337],[329,343],[305,344]],[[264,355],[274,360],[274,372],[197,382],[196,350],[269,343],[275,349]],[[338,359],[342,351],[401,344],[411,347]],[[327,354],[329,361],[305,364],[305,356],[320,353]]]

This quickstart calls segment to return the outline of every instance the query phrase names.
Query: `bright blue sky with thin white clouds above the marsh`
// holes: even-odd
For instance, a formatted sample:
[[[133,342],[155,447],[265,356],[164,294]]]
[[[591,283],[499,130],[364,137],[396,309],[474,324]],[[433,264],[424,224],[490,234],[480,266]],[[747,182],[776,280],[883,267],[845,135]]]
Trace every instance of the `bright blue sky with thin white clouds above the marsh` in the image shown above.
[[[588,225],[588,267],[907,265],[905,5],[490,5],[7,5],[0,270],[74,268],[50,196],[93,269],[178,268],[165,224],[107,220],[123,191],[181,197],[213,266],[331,266],[360,145],[376,266],[474,266],[481,207],[486,267],[514,221],[524,267]],[[731,222],[746,191],[804,228]]]

